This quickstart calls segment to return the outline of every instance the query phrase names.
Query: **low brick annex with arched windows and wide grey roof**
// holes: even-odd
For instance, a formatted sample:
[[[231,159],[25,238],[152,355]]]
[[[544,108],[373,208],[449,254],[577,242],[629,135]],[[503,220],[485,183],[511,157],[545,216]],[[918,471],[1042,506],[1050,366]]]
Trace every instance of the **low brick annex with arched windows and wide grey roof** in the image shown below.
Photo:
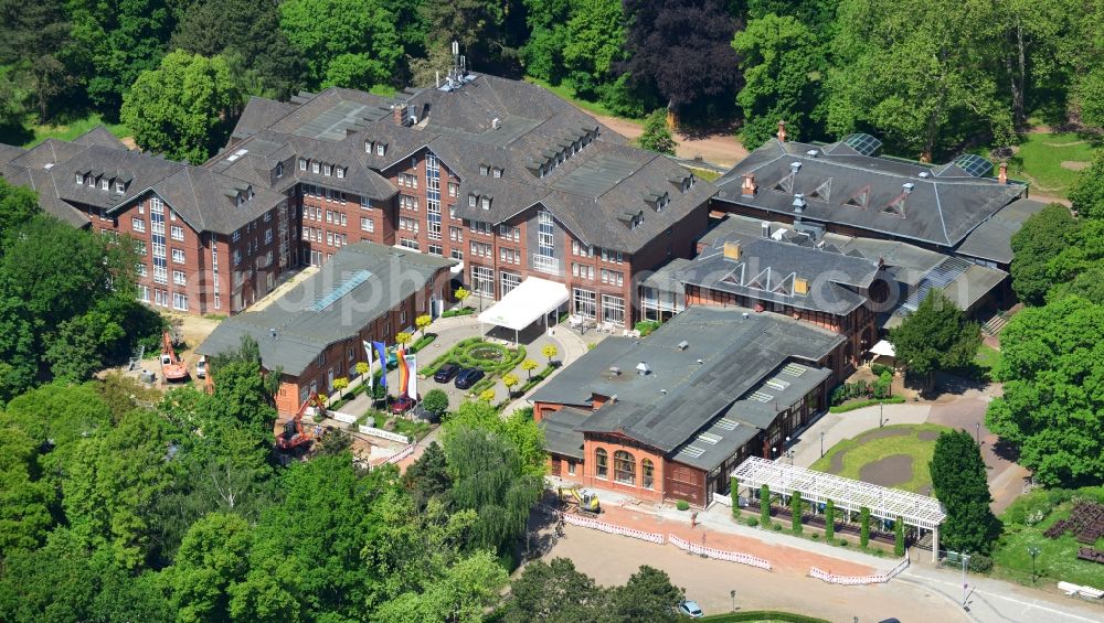
[[[846,340],[781,314],[691,307],[611,336],[530,399],[553,475],[705,506],[750,455],[775,458],[825,408]]]

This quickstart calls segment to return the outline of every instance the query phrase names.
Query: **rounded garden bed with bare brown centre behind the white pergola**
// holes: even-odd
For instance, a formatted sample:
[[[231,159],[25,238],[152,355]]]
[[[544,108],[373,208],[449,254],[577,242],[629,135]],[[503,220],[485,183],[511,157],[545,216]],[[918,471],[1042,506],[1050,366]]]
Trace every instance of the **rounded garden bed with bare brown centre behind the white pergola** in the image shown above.
[[[935,452],[935,440],[944,430],[947,429],[937,425],[894,425],[869,430],[837,443],[810,469],[930,495],[932,476],[927,464]]]

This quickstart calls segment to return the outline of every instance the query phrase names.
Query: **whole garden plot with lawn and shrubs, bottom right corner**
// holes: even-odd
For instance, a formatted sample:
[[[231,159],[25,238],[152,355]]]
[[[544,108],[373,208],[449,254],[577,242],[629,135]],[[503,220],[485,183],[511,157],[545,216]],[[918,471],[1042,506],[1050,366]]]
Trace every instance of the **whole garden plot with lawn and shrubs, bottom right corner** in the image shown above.
[[[1104,503],[1104,487],[1039,490],[1018,498],[1001,515],[1005,531],[992,551],[994,573],[1030,583],[1030,548],[1037,548],[1039,578],[1104,588],[1104,565],[1078,558],[1083,549],[1104,550],[1104,536],[1096,533],[1095,540],[1086,543],[1078,538],[1083,529],[1065,527],[1079,506],[1084,512],[1094,503]]]

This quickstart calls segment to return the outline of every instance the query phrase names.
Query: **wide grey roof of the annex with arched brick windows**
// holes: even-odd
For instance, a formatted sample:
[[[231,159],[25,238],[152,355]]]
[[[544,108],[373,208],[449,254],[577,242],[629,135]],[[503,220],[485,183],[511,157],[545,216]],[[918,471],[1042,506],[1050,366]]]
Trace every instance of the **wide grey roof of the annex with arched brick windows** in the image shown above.
[[[672,452],[779,366],[795,359],[811,365],[842,342],[776,314],[694,307],[646,339],[603,340],[532,400],[588,406],[593,395],[616,396],[576,429],[616,432]],[[649,374],[638,374],[639,363]]]

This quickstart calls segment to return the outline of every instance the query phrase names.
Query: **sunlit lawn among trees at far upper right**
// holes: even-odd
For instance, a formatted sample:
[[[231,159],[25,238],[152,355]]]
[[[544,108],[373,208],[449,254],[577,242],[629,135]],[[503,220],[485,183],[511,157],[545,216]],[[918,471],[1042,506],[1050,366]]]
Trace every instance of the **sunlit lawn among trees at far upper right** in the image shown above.
[[[1008,161],[1008,176],[1029,182],[1040,194],[1065,196],[1078,171],[1062,167],[1062,162],[1089,162],[1092,152],[1092,142],[1073,132],[1027,133]],[[987,149],[978,153],[990,158]]]

